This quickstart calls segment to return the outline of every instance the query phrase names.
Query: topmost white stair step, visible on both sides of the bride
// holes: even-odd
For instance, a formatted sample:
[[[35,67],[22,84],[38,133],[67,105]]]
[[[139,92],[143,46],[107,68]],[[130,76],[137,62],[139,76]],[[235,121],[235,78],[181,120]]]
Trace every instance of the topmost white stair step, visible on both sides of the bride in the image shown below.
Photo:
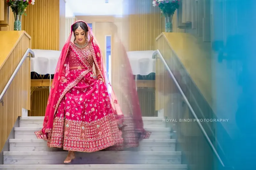
[[[142,117],[144,128],[165,128],[164,117]],[[43,127],[43,116],[20,117],[20,127]]]

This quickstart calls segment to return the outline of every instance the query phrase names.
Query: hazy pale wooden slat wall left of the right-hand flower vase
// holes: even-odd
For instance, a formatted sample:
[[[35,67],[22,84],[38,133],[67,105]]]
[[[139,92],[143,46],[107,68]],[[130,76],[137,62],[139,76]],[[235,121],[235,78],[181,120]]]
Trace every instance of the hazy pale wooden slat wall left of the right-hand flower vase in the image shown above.
[[[124,0],[124,34],[129,33],[127,50],[155,50],[156,37],[164,31],[164,18],[152,0]],[[128,27],[127,27],[128,26]],[[127,33],[125,33],[127,32]]]

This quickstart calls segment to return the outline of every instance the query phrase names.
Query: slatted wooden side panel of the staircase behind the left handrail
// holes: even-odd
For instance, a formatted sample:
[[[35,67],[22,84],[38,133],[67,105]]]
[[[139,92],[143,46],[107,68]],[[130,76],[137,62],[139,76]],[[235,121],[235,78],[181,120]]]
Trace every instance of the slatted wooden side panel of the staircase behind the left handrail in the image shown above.
[[[30,37],[24,34],[0,70],[0,92],[11,77],[25,51],[30,48]],[[21,116],[21,109],[30,110],[30,60],[24,61],[19,72],[4,95],[4,106],[0,105],[0,150],[12,127]]]

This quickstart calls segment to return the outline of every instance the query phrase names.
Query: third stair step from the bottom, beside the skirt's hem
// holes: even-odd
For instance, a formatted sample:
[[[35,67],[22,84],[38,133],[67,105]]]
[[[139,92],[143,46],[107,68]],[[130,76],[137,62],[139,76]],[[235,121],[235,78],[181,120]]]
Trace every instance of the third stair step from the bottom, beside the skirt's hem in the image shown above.
[[[63,151],[49,148],[43,139],[9,139],[10,151]],[[143,139],[138,151],[176,151],[175,139]]]

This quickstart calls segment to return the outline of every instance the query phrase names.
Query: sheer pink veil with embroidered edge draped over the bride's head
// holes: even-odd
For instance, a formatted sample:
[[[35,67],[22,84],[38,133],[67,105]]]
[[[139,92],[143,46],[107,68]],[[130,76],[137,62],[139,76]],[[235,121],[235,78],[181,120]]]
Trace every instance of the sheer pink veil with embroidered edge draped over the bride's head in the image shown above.
[[[48,138],[50,138],[51,135],[52,135],[54,115],[55,115],[55,113],[58,109],[59,102],[61,100],[59,86],[60,86],[60,77],[63,74],[63,69],[66,68],[64,70],[66,75],[69,73],[69,66],[65,66],[65,60],[67,58],[70,43],[74,43],[73,42],[74,36],[72,36],[73,35],[72,28],[73,28],[73,25],[77,22],[84,22],[84,21],[76,20],[71,25],[68,39],[67,39],[66,43],[64,44],[63,49],[61,50],[60,58],[58,60],[56,70],[55,70],[55,73],[54,73],[54,78],[53,78],[53,81],[52,81],[52,87],[51,87],[48,102],[47,102],[43,128],[40,132],[41,133],[40,136],[45,140],[48,140]],[[93,36],[91,28],[88,25],[87,25],[87,27],[88,27],[88,46],[91,50],[92,57],[93,57],[93,60],[94,60],[94,64],[98,68],[99,73],[101,74],[101,77],[102,77],[103,81],[106,83],[106,86],[108,87],[108,95],[109,95],[109,98],[110,98],[110,103],[111,103],[113,112],[115,113],[117,124],[122,129],[123,122],[124,122],[124,114],[123,114],[123,112],[120,108],[120,104],[117,100],[117,97],[114,93],[114,90],[113,90],[113,88],[112,88],[112,86],[111,86],[111,84],[108,80],[107,69],[104,66],[101,50],[100,50],[100,48],[97,44],[97,40]],[[144,130],[143,129],[143,122],[138,121],[138,117],[136,118],[136,121],[134,122],[134,124],[135,124],[136,127],[141,127],[142,128],[141,131]],[[138,124],[140,124],[140,126],[138,126]]]

